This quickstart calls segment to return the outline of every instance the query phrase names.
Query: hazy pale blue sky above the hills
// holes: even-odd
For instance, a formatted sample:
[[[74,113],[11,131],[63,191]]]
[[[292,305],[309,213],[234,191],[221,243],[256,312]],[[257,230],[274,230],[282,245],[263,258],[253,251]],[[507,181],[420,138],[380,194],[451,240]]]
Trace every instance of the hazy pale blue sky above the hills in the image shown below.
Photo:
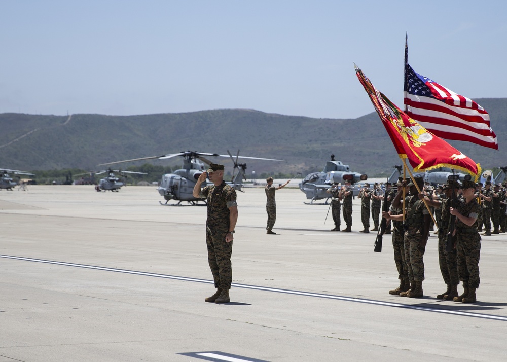
[[[354,74],[403,107],[403,53],[470,98],[507,97],[507,2],[0,2],[0,113],[218,108],[356,118]]]

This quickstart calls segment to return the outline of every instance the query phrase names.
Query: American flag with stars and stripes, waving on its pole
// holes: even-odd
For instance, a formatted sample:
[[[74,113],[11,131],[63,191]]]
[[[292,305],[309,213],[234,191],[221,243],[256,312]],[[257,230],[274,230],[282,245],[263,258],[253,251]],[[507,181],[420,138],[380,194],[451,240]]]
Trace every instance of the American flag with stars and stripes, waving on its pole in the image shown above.
[[[405,64],[404,103],[408,116],[434,135],[498,150],[489,114],[472,99],[416,73]]]

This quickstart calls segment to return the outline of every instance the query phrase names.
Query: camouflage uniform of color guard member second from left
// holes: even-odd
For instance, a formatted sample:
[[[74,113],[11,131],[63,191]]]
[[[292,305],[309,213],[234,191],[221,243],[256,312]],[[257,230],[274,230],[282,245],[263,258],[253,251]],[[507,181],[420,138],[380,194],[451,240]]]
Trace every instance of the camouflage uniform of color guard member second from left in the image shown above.
[[[424,215],[429,215],[428,209],[417,195],[405,198],[407,216],[405,219],[405,235],[403,237],[405,247],[405,261],[407,262],[409,280],[411,283],[424,280],[423,256],[426,245],[419,243],[423,236]]]

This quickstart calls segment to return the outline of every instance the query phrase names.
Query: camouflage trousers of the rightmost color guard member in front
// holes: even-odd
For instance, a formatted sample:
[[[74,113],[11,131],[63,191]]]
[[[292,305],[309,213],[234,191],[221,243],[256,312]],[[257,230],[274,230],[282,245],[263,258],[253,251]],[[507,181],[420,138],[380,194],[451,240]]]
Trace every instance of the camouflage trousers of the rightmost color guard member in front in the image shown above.
[[[478,232],[458,233],[456,242],[458,254],[458,274],[464,288],[478,288],[479,258],[481,256],[481,236]]]

